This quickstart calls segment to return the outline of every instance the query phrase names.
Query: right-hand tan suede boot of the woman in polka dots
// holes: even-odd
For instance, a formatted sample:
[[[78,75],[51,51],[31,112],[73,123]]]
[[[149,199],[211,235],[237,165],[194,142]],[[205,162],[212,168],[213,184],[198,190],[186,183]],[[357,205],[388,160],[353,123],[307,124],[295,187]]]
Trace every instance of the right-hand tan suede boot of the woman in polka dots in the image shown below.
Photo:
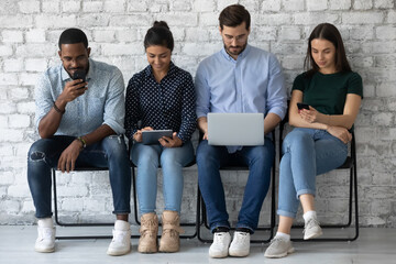
[[[160,251],[168,253],[179,251],[179,233],[184,233],[184,230],[180,228],[180,220],[177,211],[164,211],[162,221],[163,233],[160,241]]]

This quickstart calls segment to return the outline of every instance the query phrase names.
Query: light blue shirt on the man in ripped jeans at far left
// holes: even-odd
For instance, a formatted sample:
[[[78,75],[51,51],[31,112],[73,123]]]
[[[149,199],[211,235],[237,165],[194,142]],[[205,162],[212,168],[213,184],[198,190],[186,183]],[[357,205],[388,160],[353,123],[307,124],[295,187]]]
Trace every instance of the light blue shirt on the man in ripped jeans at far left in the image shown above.
[[[121,72],[112,65],[89,59],[88,90],[66,105],[56,135],[80,136],[102,124],[117,134],[124,133],[124,82]],[[35,86],[35,124],[44,118],[72,78],[62,64],[42,74]]]

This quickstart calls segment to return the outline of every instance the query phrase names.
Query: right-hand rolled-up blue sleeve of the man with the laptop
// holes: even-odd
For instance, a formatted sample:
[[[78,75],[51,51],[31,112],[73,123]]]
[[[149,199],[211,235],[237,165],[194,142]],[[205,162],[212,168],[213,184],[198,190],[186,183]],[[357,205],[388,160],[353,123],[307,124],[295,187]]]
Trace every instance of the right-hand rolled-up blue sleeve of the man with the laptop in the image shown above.
[[[285,89],[285,79],[282,67],[275,55],[271,55],[268,59],[270,80],[266,98],[266,113],[275,113],[284,119],[287,111],[287,95]]]

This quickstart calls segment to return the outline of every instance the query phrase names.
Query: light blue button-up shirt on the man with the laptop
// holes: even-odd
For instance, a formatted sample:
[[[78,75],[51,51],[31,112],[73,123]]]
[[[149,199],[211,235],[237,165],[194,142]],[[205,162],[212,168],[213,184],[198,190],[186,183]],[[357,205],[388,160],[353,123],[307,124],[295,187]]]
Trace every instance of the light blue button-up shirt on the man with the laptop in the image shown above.
[[[198,66],[197,118],[208,112],[273,112],[283,119],[287,108],[284,82],[282,67],[272,53],[246,45],[235,61],[222,48]],[[228,146],[229,153],[241,148]]]

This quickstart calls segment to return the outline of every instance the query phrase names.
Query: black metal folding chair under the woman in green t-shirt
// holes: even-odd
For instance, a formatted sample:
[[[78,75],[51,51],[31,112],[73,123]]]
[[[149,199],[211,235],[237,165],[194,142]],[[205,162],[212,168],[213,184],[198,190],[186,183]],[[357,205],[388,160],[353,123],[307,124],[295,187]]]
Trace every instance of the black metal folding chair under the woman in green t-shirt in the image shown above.
[[[279,124],[279,161],[282,158],[282,143],[284,136],[285,125],[288,123],[288,114]],[[355,144],[355,134],[352,132],[352,141],[350,154],[346,157],[344,164],[342,164],[337,169],[349,169],[350,170],[350,185],[349,185],[349,211],[348,211],[348,222],[340,224],[323,224],[322,229],[334,229],[334,228],[349,228],[352,224],[353,220],[353,207],[354,207],[354,235],[352,238],[320,238],[312,239],[308,241],[354,241],[359,237],[359,206],[358,206],[358,166],[356,166],[356,144]],[[304,226],[293,226],[293,229],[301,229]],[[292,239],[293,241],[306,241],[304,239]]]

